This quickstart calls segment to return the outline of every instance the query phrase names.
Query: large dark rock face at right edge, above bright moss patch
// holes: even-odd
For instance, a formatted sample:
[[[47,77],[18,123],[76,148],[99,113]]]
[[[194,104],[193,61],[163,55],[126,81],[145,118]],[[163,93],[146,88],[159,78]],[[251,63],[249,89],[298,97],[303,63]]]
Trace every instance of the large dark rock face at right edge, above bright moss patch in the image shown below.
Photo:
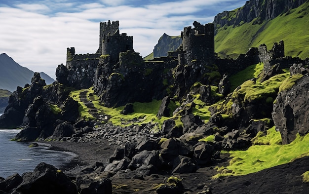
[[[300,78],[289,90],[282,91],[273,105],[272,119],[280,131],[282,144],[289,144],[299,133],[309,132],[309,77]]]

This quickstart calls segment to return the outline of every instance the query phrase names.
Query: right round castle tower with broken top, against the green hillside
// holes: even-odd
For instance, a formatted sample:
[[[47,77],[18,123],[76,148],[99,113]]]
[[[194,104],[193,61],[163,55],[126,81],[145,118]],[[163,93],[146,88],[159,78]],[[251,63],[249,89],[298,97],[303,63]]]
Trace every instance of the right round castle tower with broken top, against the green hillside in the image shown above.
[[[204,65],[212,64],[215,59],[214,25],[194,21],[194,28],[185,27],[181,37],[183,39],[183,54],[181,63],[191,65],[193,60]]]

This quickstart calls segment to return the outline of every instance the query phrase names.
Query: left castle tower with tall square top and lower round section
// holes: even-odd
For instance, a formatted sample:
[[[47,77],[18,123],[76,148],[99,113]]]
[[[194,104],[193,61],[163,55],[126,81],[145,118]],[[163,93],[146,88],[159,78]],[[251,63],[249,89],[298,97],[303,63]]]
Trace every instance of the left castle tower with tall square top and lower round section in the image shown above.
[[[133,51],[133,37],[119,34],[119,21],[100,22],[100,45],[97,53],[109,54],[112,61],[119,60],[119,53]]]

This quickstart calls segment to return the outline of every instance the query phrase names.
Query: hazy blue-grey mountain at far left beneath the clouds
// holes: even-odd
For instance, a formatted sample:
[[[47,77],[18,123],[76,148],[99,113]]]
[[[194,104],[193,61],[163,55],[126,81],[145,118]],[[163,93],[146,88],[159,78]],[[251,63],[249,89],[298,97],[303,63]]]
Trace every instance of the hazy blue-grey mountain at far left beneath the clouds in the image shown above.
[[[0,54],[0,88],[15,91],[17,86],[24,87],[26,83],[31,83],[34,72],[28,68],[20,66],[11,57],[5,53]],[[43,72],[40,72],[41,78],[45,79],[46,84],[54,82]]]

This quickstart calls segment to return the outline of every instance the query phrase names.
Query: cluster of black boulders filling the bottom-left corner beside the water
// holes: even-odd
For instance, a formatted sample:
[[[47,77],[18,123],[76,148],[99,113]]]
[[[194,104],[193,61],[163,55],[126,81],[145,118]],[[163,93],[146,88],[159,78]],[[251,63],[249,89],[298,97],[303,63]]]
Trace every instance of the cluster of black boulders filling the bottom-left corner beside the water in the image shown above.
[[[92,169],[93,172],[94,169]],[[111,180],[96,173],[79,175],[76,184],[56,167],[39,163],[33,172],[14,174],[0,181],[5,194],[112,194]]]

